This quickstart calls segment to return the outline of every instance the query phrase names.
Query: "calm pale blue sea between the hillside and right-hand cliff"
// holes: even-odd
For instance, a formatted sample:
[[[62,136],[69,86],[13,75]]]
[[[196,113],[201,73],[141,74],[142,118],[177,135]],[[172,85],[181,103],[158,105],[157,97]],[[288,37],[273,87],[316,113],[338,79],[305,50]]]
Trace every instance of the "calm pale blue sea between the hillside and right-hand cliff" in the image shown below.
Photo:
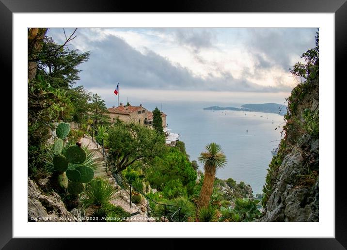
[[[233,178],[237,183],[243,181],[251,185],[253,194],[263,193],[271,150],[282,139],[284,117],[275,113],[204,110],[210,106],[239,108],[242,104],[143,102],[143,107],[148,110],[158,107],[167,114],[168,128],[180,135],[190,160],[198,161],[205,145],[216,142],[227,158],[227,164],[217,170],[216,176]],[[198,165],[203,171],[199,161]]]

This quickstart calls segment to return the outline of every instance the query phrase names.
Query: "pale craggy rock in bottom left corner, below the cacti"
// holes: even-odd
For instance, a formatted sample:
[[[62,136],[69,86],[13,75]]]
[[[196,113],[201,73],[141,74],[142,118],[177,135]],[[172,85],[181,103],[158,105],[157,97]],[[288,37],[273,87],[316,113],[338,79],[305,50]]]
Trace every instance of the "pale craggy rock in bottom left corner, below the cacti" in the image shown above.
[[[78,221],[64,206],[59,194],[41,193],[31,179],[28,180],[28,221]]]

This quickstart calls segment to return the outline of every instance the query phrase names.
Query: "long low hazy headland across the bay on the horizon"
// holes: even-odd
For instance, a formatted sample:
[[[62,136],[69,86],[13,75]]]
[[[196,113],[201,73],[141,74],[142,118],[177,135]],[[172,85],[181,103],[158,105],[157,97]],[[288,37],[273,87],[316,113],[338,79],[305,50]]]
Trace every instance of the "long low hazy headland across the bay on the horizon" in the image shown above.
[[[263,113],[275,113],[280,115],[285,115],[285,113],[287,112],[287,106],[284,106],[278,103],[244,104],[241,107],[242,108],[211,106],[204,109],[205,110],[255,111],[255,112],[263,112]]]

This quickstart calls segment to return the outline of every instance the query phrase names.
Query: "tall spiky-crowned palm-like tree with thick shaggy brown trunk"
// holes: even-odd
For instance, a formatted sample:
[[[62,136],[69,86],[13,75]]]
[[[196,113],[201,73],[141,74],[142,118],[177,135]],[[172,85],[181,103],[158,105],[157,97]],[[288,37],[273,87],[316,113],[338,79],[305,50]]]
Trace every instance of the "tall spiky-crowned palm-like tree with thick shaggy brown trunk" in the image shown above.
[[[203,207],[207,207],[213,192],[213,183],[216,176],[216,171],[223,168],[226,164],[226,156],[221,151],[221,146],[217,143],[210,143],[206,145],[206,152],[200,153],[199,161],[204,164],[205,177],[203,186],[201,187],[197,214]]]

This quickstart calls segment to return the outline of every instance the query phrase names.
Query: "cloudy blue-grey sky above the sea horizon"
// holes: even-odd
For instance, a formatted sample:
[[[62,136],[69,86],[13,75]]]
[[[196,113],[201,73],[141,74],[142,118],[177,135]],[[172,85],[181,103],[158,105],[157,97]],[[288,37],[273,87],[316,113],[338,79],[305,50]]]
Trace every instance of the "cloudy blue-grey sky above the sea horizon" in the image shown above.
[[[65,29],[67,35],[74,29]],[[79,65],[86,90],[120,102],[284,103],[298,83],[289,68],[315,47],[304,28],[79,28],[70,49],[90,51]],[[63,29],[48,30],[63,44]]]

